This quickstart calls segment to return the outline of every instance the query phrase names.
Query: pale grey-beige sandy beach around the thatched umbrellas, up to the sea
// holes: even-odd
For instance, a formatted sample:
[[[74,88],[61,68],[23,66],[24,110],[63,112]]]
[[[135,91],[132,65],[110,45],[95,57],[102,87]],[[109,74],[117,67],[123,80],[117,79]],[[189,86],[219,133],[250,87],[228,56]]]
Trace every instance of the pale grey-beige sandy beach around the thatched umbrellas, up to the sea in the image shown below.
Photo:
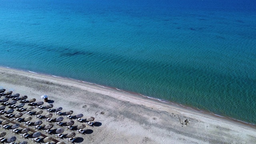
[[[73,110],[74,114],[82,113],[83,118],[94,117],[97,124],[86,125],[90,130],[88,134],[76,132],[74,143],[256,143],[253,126],[68,78],[1,67],[0,88],[26,95],[28,99],[36,98],[36,102],[42,101],[40,96],[46,94],[54,108],[63,108],[62,112]],[[47,104],[44,102],[43,105]]]

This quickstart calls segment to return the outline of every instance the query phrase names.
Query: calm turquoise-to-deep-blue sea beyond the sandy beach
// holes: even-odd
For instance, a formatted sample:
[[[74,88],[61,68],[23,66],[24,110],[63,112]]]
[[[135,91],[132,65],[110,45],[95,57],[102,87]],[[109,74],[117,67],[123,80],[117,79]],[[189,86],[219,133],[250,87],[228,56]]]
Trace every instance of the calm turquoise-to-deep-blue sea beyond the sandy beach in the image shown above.
[[[256,124],[256,2],[1,0],[0,66]]]

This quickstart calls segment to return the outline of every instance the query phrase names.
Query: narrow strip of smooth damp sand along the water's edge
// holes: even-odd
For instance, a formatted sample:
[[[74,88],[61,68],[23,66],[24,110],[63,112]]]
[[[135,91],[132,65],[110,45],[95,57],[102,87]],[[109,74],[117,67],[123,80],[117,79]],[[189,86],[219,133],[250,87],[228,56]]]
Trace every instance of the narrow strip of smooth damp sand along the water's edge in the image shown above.
[[[217,118],[217,119],[219,118],[219,119],[222,119],[222,120],[227,120],[229,122],[235,122],[236,124],[241,124],[241,125],[249,126],[250,128],[255,128],[256,129],[256,124],[251,124],[251,123],[248,123],[248,122],[244,122],[242,120],[237,120],[237,119],[234,119],[234,118],[231,118],[231,117],[228,117],[228,116],[221,116],[221,115],[218,115],[218,114],[214,114],[213,112],[210,112],[210,111],[200,110],[196,107],[186,106],[186,105],[182,105],[182,104],[179,104],[179,103],[170,102],[170,101],[167,101],[167,100],[153,98],[153,97],[150,97],[150,96],[144,96],[144,95],[136,93],[136,92],[120,90],[118,88],[109,87],[109,86],[101,86],[101,85],[98,85],[98,84],[95,84],[95,83],[85,82],[85,81],[82,81],[82,80],[76,80],[76,79],[73,79],[73,78],[54,76],[54,75],[50,75],[50,74],[40,74],[40,73],[32,72],[32,71],[29,71],[29,70],[19,70],[19,69],[14,69],[14,68],[10,68],[10,67],[3,67],[3,66],[0,66],[0,70],[10,70],[10,71],[15,71],[15,72],[24,72],[25,74],[31,74],[31,75],[34,74],[36,76],[45,76],[47,78],[55,78],[55,79],[60,79],[60,80],[64,80],[64,81],[67,80],[68,82],[73,81],[73,82],[78,82],[79,84],[82,84],[82,85],[85,85],[85,86],[98,87],[98,88],[108,89],[108,90],[112,90],[112,91],[114,90],[114,91],[120,92],[121,94],[128,94],[129,96],[132,96],[133,98],[139,98],[139,99],[143,99],[143,100],[148,100],[150,102],[156,102],[158,104],[167,104],[167,105],[170,105],[170,106],[173,106],[173,107],[183,108],[184,110],[188,110],[188,111],[191,111],[191,112],[196,112],[198,114],[203,114],[203,115],[206,114],[208,116],[212,116],[212,117]]]

